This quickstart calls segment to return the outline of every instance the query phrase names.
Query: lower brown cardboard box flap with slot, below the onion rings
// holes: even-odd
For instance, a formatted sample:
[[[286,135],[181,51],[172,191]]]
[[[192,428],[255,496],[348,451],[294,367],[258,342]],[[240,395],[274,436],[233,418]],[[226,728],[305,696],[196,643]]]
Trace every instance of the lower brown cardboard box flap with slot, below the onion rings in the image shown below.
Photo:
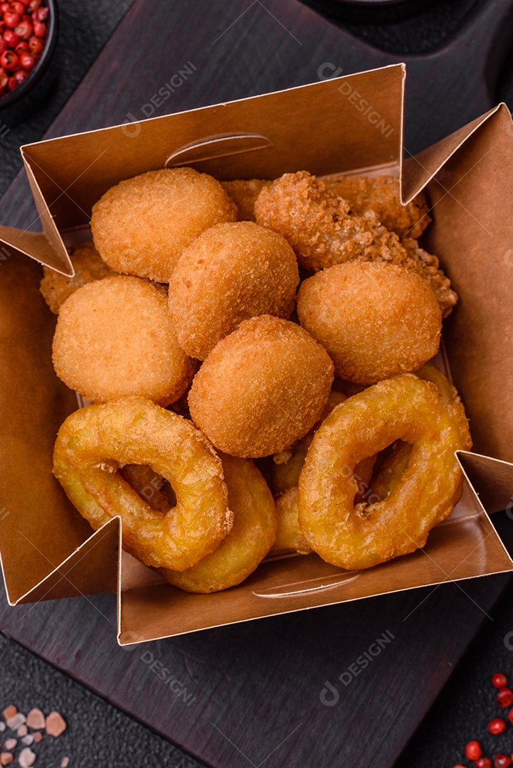
[[[513,466],[509,465],[510,472]],[[433,528],[422,550],[366,571],[343,571],[316,554],[264,561],[246,581],[224,592],[190,594],[169,584],[125,584],[118,595],[120,645],[235,624],[403,589],[511,571],[513,562],[468,479],[462,502]],[[465,590],[464,590],[465,591]]]

